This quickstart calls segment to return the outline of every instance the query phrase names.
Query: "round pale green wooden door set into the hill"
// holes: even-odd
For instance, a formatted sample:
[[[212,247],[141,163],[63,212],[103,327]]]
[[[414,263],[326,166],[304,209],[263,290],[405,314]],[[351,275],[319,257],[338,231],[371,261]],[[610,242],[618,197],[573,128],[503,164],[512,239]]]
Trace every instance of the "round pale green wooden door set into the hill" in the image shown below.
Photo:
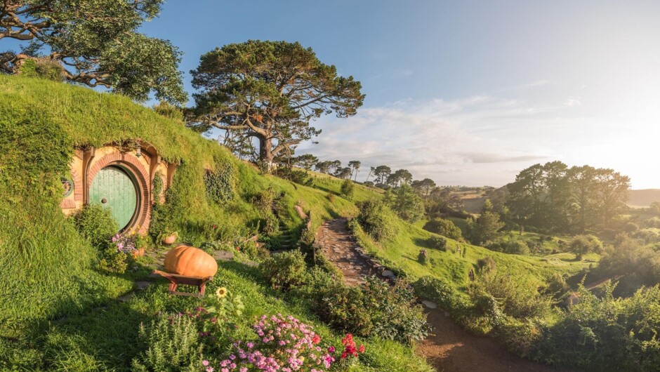
[[[90,204],[110,208],[119,230],[124,229],[138,207],[138,191],[128,174],[117,166],[101,169],[89,190]]]

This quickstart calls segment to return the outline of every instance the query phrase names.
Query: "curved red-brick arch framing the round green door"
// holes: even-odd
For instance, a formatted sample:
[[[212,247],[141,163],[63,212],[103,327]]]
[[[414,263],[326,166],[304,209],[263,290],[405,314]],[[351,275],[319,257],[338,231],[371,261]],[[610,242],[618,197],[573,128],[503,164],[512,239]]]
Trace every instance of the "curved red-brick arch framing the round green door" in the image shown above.
[[[131,222],[128,223],[126,230],[140,226],[138,232],[145,234],[149,228],[149,222],[151,222],[151,187],[149,173],[147,173],[147,169],[140,163],[138,158],[124,152],[113,152],[112,154],[105,155],[105,157],[96,161],[87,173],[86,188],[89,190],[94,178],[101,169],[113,165],[122,166],[133,175],[138,187],[138,193],[140,194],[137,213],[133,216]]]

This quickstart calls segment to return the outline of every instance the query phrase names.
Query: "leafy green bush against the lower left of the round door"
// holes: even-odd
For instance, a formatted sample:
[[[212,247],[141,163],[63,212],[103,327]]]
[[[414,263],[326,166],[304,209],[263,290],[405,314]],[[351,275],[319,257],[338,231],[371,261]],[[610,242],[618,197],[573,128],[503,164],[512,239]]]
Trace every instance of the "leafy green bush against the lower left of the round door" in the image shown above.
[[[100,251],[110,246],[110,239],[119,231],[110,209],[100,204],[88,204],[72,218],[78,232]]]

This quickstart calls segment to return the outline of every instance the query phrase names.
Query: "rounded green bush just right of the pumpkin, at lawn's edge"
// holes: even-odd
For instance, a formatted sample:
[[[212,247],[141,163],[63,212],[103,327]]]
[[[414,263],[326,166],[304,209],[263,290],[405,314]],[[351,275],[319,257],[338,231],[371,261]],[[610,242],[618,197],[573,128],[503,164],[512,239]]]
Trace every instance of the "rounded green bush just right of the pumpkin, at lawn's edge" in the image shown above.
[[[263,260],[259,265],[263,277],[275,289],[288,291],[305,284],[307,279],[305,258],[300,251],[282,252]]]

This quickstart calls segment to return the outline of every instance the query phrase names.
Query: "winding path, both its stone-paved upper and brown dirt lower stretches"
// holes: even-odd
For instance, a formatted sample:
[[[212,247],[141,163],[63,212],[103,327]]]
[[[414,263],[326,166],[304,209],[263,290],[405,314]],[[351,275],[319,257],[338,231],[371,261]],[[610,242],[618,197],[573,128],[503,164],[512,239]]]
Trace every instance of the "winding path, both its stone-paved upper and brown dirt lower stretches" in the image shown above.
[[[343,272],[346,284],[363,283],[362,278],[371,274],[364,258],[355,251],[358,246],[345,218],[324,222],[317,232],[317,242],[325,257]],[[463,330],[443,310],[428,309],[428,322],[435,328],[435,335],[419,343],[416,352],[437,371],[565,371],[516,357],[493,339]]]

